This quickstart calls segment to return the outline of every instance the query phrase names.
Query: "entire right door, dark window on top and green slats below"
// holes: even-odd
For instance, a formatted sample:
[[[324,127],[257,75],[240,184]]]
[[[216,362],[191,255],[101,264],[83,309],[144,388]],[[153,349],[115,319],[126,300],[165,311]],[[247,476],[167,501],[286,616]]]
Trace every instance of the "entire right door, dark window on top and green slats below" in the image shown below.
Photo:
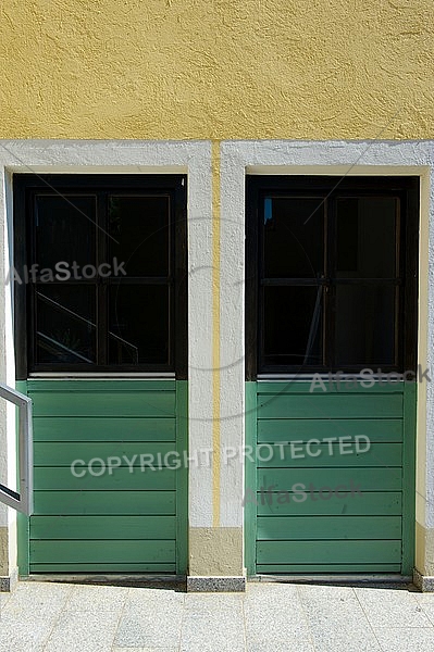
[[[417,184],[337,180],[248,181],[251,575],[413,566]]]

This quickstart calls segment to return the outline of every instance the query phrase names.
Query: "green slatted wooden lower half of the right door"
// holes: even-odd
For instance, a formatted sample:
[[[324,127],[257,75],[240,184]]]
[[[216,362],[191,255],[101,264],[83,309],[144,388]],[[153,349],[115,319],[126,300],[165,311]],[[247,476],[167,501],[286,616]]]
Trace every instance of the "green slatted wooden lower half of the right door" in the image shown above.
[[[249,572],[410,574],[416,385],[310,387],[247,384]]]

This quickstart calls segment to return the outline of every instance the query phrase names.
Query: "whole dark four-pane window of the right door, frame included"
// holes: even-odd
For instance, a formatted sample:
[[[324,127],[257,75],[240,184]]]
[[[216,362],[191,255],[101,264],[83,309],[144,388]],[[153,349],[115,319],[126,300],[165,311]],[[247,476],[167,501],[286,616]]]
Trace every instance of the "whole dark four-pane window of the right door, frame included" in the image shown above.
[[[411,369],[418,181],[247,179],[247,374]]]

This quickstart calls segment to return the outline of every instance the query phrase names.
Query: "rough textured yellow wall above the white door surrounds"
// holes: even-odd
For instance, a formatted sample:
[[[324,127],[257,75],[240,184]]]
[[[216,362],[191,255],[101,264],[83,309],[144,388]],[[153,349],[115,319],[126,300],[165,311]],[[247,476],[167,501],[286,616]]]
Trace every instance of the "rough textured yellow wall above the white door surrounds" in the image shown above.
[[[2,0],[1,138],[433,138],[433,0]]]

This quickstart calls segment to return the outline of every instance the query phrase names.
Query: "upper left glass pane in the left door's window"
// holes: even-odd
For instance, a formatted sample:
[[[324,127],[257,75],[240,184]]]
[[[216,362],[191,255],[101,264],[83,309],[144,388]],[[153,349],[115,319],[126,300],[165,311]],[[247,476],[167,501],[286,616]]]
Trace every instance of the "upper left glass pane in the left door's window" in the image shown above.
[[[49,268],[55,274],[54,266],[60,262],[67,263],[71,274],[74,262],[80,267],[95,265],[95,197],[38,195],[35,262],[39,272]]]

